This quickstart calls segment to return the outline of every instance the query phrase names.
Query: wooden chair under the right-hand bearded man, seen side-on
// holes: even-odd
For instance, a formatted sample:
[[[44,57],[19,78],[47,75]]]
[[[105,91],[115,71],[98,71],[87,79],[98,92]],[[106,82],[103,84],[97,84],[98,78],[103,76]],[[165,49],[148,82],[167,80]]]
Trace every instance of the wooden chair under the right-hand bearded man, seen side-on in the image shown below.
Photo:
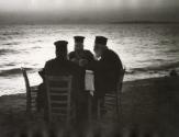
[[[98,101],[98,119],[101,118],[101,112],[108,112],[115,110],[115,117],[119,118],[119,115],[122,114],[122,85],[123,85],[123,78],[125,73],[125,68],[121,70],[121,75],[119,78],[118,90],[111,91],[107,93],[104,96],[104,106],[101,106],[102,101]]]

